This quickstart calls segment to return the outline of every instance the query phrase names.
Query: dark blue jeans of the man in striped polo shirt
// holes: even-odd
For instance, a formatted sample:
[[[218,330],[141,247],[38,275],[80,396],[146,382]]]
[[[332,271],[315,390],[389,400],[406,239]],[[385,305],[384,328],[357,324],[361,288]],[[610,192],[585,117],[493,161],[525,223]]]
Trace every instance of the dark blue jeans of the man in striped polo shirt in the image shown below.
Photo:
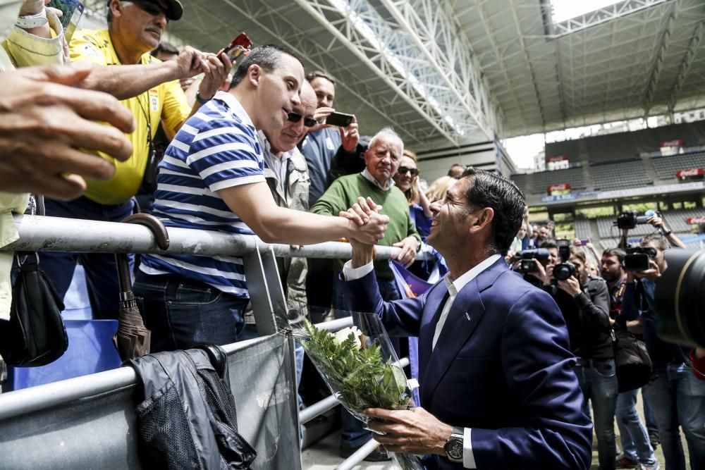
[[[152,352],[185,350],[199,343],[227,345],[245,326],[249,299],[178,276],[135,276],[142,317],[152,331]]]

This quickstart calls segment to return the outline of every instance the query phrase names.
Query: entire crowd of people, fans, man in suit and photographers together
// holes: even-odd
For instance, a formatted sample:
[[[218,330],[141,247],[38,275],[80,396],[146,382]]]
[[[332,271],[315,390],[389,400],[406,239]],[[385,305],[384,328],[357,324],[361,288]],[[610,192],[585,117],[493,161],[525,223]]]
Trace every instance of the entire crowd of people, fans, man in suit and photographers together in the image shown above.
[[[0,7],[8,32],[0,246],[17,240],[12,214],[25,212],[28,193],[47,197],[47,216],[67,219],[119,222],[145,211],[167,228],[257,235],[294,249],[344,239],[353,245],[348,263],[278,259],[280,276],[289,304],[314,322],[377,311],[391,335],[419,337],[422,407],[369,411],[387,421],[370,426],[386,433],[375,438],[388,450],[431,454],[429,468],[584,469],[592,416],[601,469],[656,469],[659,442],[668,469],[684,469],[679,426],[692,469],[705,465],[705,387],[693,369],[704,351],[654,333],[654,280],[668,242],[680,246],[661,218],[649,223],[666,235],[642,242],[654,250],[649,270],[624,271],[621,249],[594,253],[601,264],[590,266],[579,247],[558,247],[553,223],[529,223],[524,197],[505,178],[455,164],[429,185],[392,128],[361,136],[364,116],[326,124],[336,80],[305,73],[286,47],[255,47],[234,67],[222,51],[178,51],[161,42],[184,14],[178,0],[109,0],[107,29],[78,30],[68,44],[44,1],[8,5]],[[415,261],[424,243],[436,261]],[[398,247],[396,261],[419,276],[443,277],[427,295],[403,299],[374,245]],[[525,282],[507,261],[534,248],[547,256]],[[118,317],[112,254],[39,256],[62,297],[80,262],[94,318]],[[556,280],[561,261],[574,271]],[[0,252],[0,318],[11,307],[12,263]],[[147,254],[133,270],[152,352],[257,334],[239,257]],[[644,388],[649,431],[635,412],[637,390],[618,394],[613,328],[643,333],[654,362]],[[302,357],[298,347],[299,378]],[[344,414],[341,456],[370,438]],[[367,457],[388,458],[384,449]]]

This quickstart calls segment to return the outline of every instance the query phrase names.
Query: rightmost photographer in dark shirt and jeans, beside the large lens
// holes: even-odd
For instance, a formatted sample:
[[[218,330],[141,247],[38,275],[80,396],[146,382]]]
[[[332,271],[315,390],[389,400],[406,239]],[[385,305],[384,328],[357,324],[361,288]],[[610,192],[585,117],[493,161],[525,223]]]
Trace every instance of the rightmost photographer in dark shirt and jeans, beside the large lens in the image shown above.
[[[653,220],[650,223],[654,225]],[[674,245],[682,246],[675,235],[669,233],[668,237],[675,239]],[[678,429],[681,426],[688,445],[690,468],[702,469],[705,467],[705,386],[694,376],[690,348],[663,341],[656,335],[661,312],[654,302],[655,281],[667,268],[663,252],[668,249],[668,242],[661,235],[649,235],[640,245],[649,249],[649,268],[627,271],[623,314],[627,319],[637,319],[639,310],[642,313],[644,342],[654,365],[654,379],[644,390],[658,424],[666,468],[685,469]]]

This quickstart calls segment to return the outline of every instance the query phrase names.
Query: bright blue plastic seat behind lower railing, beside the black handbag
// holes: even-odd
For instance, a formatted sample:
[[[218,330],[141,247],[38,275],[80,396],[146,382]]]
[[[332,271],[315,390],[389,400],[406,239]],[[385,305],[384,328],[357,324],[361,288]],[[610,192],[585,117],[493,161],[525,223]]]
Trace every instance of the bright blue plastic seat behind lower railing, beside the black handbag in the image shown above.
[[[116,369],[122,364],[113,336],[117,320],[65,320],[68,349],[43,367],[8,367],[4,390],[19,390],[43,383]]]

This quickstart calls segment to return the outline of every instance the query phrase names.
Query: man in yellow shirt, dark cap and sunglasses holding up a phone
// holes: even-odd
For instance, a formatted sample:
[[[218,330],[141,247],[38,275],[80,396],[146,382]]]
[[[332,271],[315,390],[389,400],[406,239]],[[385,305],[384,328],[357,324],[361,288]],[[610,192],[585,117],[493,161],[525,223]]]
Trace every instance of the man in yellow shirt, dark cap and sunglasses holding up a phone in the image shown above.
[[[127,135],[133,154],[127,161],[115,161],[96,152],[115,166],[109,180],[87,180],[85,195],[72,202],[47,200],[47,216],[85,218],[118,222],[132,214],[135,195],[154,159],[154,134],[159,120],[169,140],[186,118],[200,107],[188,106],[178,79],[205,73],[200,100],[213,97],[226,78],[231,64],[225,54],[202,54],[187,47],[176,61],[161,62],[149,55],[169,20],[181,18],[177,0],[110,0],[107,30],[80,30],[69,44],[71,61],[92,63],[83,87],[97,89],[121,99],[135,118],[135,131]],[[119,285],[112,254],[42,252],[42,268],[63,297],[71,283],[77,259],[87,277],[88,295],[94,318],[116,319]]]

